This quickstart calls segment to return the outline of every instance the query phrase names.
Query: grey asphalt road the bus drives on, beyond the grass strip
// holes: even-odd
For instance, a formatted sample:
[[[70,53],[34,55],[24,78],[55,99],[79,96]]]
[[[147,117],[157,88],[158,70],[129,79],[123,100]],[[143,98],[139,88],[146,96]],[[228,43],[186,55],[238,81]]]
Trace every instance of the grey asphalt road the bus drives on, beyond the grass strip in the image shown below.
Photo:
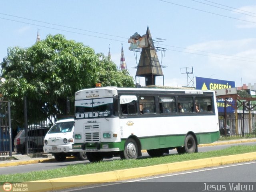
[[[256,145],[256,142],[199,147],[198,152],[220,150],[220,149],[228,148],[228,147],[234,146],[234,145]],[[170,150],[170,154],[175,154],[175,153],[177,153],[176,150]],[[148,157],[148,154],[144,153],[142,158],[146,158],[146,157]],[[119,159],[119,158],[114,158],[114,159]],[[106,159],[106,160],[108,160],[108,159]],[[110,160],[112,160],[112,159],[110,159]],[[32,171],[39,171],[39,170],[50,170],[50,169],[68,166],[70,164],[79,164],[79,163],[89,163],[89,161],[86,160],[86,161],[44,162],[44,163],[39,163],[39,164],[1,167],[0,174],[14,174],[14,173],[24,173],[24,172],[32,172]]]

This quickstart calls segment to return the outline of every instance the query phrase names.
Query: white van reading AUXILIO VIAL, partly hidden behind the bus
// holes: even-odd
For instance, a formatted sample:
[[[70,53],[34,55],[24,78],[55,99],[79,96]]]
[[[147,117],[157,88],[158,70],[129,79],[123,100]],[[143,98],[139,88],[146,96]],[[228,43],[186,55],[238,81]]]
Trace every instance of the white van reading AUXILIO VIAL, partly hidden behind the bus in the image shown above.
[[[76,156],[86,160],[86,153],[72,149],[74,144],[74,119],[58,120],[44,137],[44,152],[51,153],[57,161],[64,161],[67,156]]]

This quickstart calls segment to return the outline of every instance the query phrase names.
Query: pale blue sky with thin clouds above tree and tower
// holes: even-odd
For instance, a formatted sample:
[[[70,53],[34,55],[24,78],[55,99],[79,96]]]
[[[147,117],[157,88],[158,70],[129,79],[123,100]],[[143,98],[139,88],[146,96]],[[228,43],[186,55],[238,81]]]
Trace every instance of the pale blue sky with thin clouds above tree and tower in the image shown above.
[[[195,87],[196,76],[256,83],[255,0],[8,0],[0,7],[0,62],[8,48],[32,46],[39,30],[41,40],[63,34],[106,56],[110,48],[117,66],[123,44],[135,80],[140,55],[128,39],[149,27],[153,39],[163,40],[154,45],[166,49],[157,52],[166,66],[157,85]]]

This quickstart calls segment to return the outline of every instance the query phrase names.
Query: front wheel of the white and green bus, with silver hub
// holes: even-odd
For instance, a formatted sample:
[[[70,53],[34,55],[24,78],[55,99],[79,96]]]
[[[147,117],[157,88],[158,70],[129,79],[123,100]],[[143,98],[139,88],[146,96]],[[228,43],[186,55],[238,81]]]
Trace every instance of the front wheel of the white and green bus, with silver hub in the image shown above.
[[[132,138],[126,140],[124,144],[124,152],[120,155],[124,159],[136,159],[138,157],[138,145]]]

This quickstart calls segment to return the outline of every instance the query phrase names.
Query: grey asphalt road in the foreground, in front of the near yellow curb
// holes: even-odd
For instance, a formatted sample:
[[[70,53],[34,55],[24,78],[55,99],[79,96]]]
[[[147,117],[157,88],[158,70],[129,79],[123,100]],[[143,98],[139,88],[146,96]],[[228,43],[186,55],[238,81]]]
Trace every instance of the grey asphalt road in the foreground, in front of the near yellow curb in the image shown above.
[[[62,192],[256,191],[256,162],[164,174],[124,182],[69,188]],[[245,189],[245,188],[244,188]],[[58,192],[58,191],[55,191]]]

